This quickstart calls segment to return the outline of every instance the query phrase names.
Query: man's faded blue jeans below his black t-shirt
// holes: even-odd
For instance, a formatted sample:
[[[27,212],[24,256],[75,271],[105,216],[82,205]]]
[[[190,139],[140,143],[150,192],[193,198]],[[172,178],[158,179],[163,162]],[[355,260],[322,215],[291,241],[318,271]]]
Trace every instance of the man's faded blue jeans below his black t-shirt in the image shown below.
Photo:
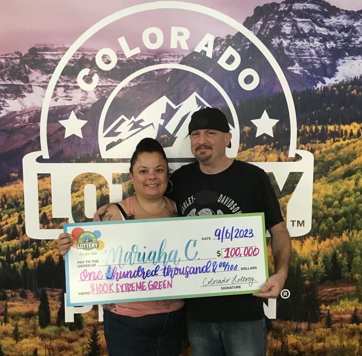
[[[266,355],[265,319],[203,323],[187,318],[192,356]]]

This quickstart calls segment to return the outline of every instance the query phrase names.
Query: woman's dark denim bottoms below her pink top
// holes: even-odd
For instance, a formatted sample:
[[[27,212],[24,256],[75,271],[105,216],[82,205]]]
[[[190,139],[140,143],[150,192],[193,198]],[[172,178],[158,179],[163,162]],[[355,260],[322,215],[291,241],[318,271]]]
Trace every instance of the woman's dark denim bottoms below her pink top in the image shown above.
[[[178,356],[184,308],[170,313],[127,317],[103,309],[109,356]]]

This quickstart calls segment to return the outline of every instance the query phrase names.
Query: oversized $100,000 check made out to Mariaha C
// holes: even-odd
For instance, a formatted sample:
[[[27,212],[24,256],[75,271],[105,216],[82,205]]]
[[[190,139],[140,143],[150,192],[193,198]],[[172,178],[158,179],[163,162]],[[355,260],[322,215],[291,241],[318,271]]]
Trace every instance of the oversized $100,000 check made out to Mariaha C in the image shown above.
[[[64,224],[67,305],[259,292],[264,213]]]

